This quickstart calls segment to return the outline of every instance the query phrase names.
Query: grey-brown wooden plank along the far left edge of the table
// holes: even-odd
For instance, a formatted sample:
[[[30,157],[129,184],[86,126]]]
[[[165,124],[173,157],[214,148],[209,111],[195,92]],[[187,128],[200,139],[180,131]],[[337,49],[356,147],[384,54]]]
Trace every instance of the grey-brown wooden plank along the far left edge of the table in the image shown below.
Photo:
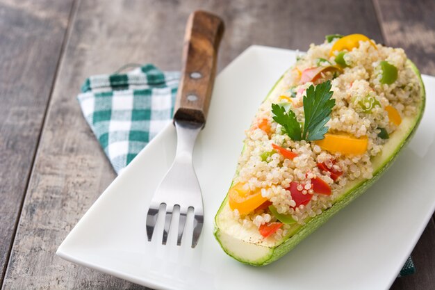
[[[71,7],[71,0],[0,1],[0,282]]]

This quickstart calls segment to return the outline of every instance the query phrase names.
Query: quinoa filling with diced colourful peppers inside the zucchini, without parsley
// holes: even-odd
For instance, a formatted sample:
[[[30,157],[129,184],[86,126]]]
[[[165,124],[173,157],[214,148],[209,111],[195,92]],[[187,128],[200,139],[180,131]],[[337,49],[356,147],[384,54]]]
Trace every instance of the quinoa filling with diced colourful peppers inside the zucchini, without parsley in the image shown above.
[[[310,87],[318,90],[325,83],[335,102],[325,119],[327,133],[315,140],[302,133],[302,140],[295,140],[285,123],[277,122],[273,106],[293,112],[303,131],[309,122],[304,102],[315,92]],[[311,45],[245,131],[229,191],[233,218],[258,229],[264,239],[279,241],[295,225],[322,214],[348,182],[372,178],[372,158],[402,118],[417,113],[419,95],[418,77],[402,49],[363,35]]]

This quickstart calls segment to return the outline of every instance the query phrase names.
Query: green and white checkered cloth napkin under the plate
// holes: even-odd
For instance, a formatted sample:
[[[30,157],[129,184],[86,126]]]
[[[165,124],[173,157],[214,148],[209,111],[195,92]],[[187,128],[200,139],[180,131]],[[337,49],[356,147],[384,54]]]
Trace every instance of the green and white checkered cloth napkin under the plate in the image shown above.
[[[81,111],[118,174],[172,119],[179,79],[151,64],[86,79],[77,96]],[[399,277],[415,272],[409,257]]]

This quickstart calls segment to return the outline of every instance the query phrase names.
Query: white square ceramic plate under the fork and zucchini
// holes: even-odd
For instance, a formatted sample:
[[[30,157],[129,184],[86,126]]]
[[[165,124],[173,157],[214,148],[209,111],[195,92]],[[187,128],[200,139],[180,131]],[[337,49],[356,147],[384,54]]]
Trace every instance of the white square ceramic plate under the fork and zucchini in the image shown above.
[[[156,289],[388,289],[435,209],[427,184],[435,176],[431,76],[423,77],[428,112],[395,164],[288,255],[262,268],[246,266],[227,256],[213,237],[213,218],[236,169],[243,132],[295,55],[249,47],[217,76],[193,158],[205,209],[197,248],[159,245],[156,236],[147,242],[149,200],[172,163],[177,142],[169,124],[101,194],[57,254]]]

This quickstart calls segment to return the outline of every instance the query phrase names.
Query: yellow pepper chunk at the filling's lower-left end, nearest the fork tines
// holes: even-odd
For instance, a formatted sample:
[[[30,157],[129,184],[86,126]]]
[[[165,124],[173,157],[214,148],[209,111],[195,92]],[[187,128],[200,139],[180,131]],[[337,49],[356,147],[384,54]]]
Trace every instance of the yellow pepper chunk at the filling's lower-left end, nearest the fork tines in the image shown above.
[[[260,189],[252,192],[249,189],[246,190],[243,186],[243,183],[238,182],[229,189],[228,194],[229,207],[232,210],[237,209],[239,214],[249,214],[268,200],[261,196]]]

